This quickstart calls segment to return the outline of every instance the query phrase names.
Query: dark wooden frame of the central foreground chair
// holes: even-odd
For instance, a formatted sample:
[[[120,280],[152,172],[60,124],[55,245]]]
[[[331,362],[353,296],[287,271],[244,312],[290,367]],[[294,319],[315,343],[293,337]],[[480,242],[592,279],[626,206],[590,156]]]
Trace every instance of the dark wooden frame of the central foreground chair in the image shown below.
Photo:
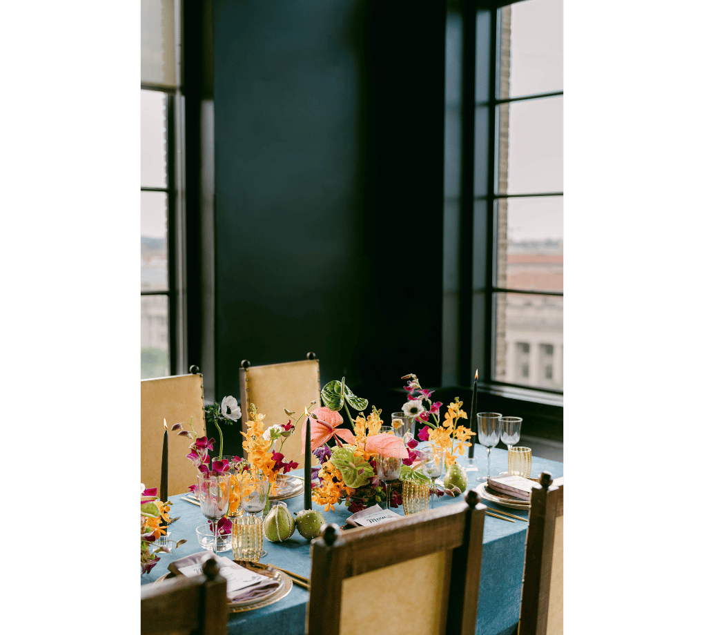
[[[340,532],[337,525],[326,525],[320,538],[311,543],[313,565],[306,633],[339,633],[344,579],[452,550],[449,591],[443,609],[444,632],[473,635],[482,573],[484,510],[486,505],[479,503],[477,493],[470,490],[459,503],[377,527]]]

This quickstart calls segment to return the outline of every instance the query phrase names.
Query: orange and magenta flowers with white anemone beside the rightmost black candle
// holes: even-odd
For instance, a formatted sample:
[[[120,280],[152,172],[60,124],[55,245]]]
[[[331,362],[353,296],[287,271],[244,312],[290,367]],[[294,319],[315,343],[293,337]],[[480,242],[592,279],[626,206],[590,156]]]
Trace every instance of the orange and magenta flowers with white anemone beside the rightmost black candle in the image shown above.
[[[448,404],[444,420],[441,422],[440,409],[443,404],[440,401],[432,401],[434,391],[422,389],[418,378],[413,374],[402,379],[408,379],[404,386],[408,392],[408,401],[403,405],[403,413],[427,424],[418,433],[418,439],[429,441],[435,448],[443,450],[445,465],[450,467],[465,453],[465,449],[472,445],[469,439],[475,434],[464,425],[458,425],[460,419],[467,419],[467,413],[462,410],[462,402],[455,397],[455,401]]]

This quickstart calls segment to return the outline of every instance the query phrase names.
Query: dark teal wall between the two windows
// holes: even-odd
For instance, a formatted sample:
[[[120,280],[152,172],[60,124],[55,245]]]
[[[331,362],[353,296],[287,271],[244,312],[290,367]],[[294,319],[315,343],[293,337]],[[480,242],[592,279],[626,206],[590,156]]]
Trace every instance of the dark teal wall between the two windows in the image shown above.
[[[215,0],[213,23],[215,397],[243,358],[315,351],[391,412],[401,375],[440,383],[444,3]]]

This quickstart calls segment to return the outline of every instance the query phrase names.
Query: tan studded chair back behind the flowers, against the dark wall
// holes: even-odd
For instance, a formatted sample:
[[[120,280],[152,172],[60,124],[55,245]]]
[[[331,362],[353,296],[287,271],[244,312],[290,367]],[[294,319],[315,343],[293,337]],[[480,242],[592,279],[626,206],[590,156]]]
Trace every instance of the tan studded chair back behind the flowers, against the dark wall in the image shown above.
[[[284,424],[291,418],[284,413],[284,408],[294,411],[296,417],[311,401],[315,404],[308,407],[308,411],[320,408],[320,363],[315,353],[308,353],[308,359],[299,362],[263,366],[251,366],[244,360],[239,369],[239,395],[243,432],[249,420],[250,403],[266,415],[266,425]],[[296,434],[284,444],[283,454],[286,460],[297,461],[298,466],[303,467],[305,458],[298,429],[302,430],[303,426],[299,425]]]

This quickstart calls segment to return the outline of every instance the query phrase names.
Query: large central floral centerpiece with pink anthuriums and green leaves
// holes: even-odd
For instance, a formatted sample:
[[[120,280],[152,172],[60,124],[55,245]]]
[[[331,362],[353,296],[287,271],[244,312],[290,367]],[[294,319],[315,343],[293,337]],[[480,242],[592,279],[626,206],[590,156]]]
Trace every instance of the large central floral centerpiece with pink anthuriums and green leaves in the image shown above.
[[[379,482],[377,474],[377,457],[379,455],[400,455],[406,474],[417,472],[417,456],[413,448],[417,441],[407,434],[403,439],[394,434],[379,434],[384,421],[382,411],[372,406],[367,417],[363,410],[369,402],[359,398],[341,382],[329,382],[321,391],[324,407],[313,412],[306,411],[306,422],[301,432],[303,451],[305,451],[306,426],[310,426],[310,446],[320,461],[320,467],[313,468],[311,498],[319,505],[325,505],[325,511],[334,510],[341,500],[351,512],[363,510],[370,505],[380,503],[389,496],[391,507],[401,503],[401,484],[396,483],[387,494]],[[353,419],[349,408],[358,411]],[[341,428],[343,419],[339,413],[345,409],[352,431]],[[335,446],[327,446],[327,441],[334,439]],[[404,472],[402,471],[402,477]]]

